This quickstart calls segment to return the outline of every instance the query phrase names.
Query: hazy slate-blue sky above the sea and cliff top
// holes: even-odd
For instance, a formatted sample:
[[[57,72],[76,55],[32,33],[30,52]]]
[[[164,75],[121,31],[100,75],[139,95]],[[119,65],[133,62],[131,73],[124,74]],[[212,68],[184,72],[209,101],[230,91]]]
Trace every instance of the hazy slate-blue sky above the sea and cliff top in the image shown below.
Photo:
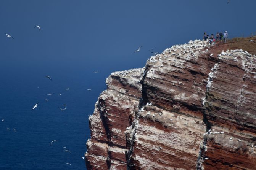
[[[204,31],[255,33],[255,6],[254,0],[228,5],[226,0],[3,0],[1,70],[26,66],[48,74],[57,68],[109,73],[143,67],[148,49],[161,52],[201,38]],[[140,45],[142,51],[133,54]]]

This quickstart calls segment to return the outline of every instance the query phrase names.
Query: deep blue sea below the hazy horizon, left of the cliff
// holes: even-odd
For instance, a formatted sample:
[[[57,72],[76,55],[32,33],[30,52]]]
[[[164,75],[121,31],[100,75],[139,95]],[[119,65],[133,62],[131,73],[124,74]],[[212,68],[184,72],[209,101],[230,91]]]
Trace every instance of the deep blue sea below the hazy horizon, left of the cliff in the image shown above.
[[[88,115],[105,88],[105,78],[91,71],[93,79],[86,79],[86,74],[76,78],[53,74],[50,81],[35,72],[9,73],[0,83],[0,169],[86,169],[81,156],[90,137]],[[54,94],[46,95],[50,93]],[[37,102],[38,108],[31,111]],[[50,145],[52,140],[57,141]]]

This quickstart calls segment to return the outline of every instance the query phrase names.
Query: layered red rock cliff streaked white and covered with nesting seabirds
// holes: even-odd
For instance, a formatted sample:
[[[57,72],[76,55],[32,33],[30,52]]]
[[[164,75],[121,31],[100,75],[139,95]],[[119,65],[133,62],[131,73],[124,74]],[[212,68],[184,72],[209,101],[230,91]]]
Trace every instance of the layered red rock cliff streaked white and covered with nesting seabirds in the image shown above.
[[[112,73],[89,117],[87,169],[256,169],[256,61],[227,48],[190,41]]]

